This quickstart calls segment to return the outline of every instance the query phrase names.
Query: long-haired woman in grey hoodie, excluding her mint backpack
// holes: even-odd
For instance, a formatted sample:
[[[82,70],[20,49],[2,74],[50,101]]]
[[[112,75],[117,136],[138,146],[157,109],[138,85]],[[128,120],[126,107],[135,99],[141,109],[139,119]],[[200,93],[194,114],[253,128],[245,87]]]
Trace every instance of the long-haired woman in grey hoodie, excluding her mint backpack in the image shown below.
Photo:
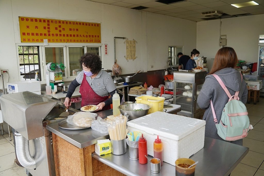
[[[246,82],[244,79],[241,81],[241,74],[234,69],[237,62],[238,60],[235,50],[231,47],[223,47],[217,51],[213,68],[209,75],[205,77],[205,82],[199,93],[197,103],[200,108],[205,109],[204,117],[202,119],[206,121],[205,136],[207,137],[223,140],[217,134],[210,100],[212,100],[213,106],[215,107],[216,118],[218,122],[220,122],[222,111],[229,99],[221,85],[211,74],[216,74],[220,77],[231,95],[234,95],[236,91],[239,91],[239,100],[244,104],[247,102],[248,90]],[[231,143],[242,145],[242,139],[231,141]]]

